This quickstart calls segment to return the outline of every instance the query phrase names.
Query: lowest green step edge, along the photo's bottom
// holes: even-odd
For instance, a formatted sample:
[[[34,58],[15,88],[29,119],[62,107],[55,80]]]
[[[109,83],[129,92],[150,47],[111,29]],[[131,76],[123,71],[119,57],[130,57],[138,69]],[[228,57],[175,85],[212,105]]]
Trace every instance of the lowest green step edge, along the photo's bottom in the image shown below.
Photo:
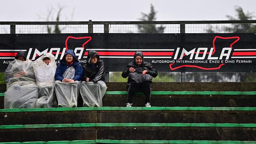
[[[256,141],[217,140],[73,140],[48,142],[0,142],[0,144],[256,144]]]

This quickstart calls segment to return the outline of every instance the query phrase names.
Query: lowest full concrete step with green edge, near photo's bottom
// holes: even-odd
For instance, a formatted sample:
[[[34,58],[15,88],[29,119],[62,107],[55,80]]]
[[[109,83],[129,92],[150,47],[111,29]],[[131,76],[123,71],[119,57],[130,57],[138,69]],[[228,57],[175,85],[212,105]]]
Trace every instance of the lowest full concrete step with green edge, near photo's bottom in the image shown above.
[[[1,142],[52,140],[255,140],[256,124],[90,123],[0,126]]]

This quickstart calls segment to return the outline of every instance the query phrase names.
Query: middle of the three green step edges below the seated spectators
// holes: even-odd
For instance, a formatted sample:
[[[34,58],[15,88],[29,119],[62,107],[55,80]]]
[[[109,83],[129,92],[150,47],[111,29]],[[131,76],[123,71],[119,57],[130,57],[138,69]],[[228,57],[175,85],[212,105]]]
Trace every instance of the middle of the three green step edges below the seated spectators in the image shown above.
[[[81,124],[26,124],[1,125],[0,129],[17,128],[71,128],[71,127],[247,127],[256,128],[256,124],[231,123],[81,123]]]

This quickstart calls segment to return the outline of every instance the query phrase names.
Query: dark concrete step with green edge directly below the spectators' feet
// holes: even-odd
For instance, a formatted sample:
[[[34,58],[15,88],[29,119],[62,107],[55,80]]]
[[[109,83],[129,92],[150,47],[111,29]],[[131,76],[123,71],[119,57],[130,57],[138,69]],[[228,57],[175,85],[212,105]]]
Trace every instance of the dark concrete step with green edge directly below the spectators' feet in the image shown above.
[[[0,109],[0,125],[67,123],[256,123],[256,107]]]

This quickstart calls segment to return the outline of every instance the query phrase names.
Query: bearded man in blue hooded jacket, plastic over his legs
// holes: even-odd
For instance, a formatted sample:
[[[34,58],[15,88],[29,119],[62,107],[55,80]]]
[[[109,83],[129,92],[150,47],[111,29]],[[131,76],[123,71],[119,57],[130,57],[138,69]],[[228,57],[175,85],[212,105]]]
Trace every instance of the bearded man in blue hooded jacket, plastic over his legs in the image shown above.
[[[76,107],[83,68],[74,50],[67,50],[55,73],[58,107]]]

